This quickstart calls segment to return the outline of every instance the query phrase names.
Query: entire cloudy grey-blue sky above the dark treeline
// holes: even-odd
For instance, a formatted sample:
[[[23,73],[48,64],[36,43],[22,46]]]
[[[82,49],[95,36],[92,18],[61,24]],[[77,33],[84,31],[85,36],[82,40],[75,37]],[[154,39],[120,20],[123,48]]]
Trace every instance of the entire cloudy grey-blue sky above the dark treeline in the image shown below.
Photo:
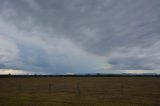
[[[160,73],[160,0],[0,0],[7,73]]]

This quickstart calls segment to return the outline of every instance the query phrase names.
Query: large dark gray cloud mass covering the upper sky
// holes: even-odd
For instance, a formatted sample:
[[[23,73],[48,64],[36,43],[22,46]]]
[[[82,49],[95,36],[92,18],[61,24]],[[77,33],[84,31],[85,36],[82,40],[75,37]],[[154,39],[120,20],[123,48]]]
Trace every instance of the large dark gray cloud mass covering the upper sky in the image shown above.
[[[23,23],[30,19],[33,28],[34,25],[44,27],[44,31],[51,28],[51,32],[70,37],[89,52],[102,55],[117,46],[144,47],[160,39],[157,0],[34,0],[34,3],[23,0],[5,3],[15,12],[5,18],[29,31],[31,27]]]

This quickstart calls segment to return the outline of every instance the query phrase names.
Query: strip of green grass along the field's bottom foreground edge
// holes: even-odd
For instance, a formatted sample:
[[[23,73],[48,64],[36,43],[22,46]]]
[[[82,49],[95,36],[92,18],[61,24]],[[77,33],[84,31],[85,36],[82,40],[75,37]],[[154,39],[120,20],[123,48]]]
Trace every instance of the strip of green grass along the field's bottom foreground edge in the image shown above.
[[[118,99],[118,98],[117,98]],[[97,99],[92,96],[79,97],[74,95],[13,95],[1,96],[1,106],[150,106],[151,104],[127,103]]]

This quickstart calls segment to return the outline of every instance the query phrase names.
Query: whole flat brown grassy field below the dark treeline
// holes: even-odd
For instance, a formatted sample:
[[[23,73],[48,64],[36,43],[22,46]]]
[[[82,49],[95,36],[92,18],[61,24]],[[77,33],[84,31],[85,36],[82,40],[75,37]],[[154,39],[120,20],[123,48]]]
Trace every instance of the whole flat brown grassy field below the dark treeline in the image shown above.
[[[160,106],[160,78],[0,78],[0,106]]]

